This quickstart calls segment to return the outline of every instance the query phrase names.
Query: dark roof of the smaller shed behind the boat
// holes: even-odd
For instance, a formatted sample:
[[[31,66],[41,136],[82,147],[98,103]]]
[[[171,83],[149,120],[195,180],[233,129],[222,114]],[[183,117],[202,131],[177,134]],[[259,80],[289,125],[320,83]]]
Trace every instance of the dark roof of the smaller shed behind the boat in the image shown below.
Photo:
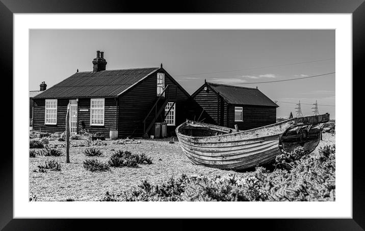
[[[242,86],[232,86],[211,82],[207,82],[207,84],[231,104],[278,107],[278,105],[269,99],[269,97],[255,88],[244,88]]]

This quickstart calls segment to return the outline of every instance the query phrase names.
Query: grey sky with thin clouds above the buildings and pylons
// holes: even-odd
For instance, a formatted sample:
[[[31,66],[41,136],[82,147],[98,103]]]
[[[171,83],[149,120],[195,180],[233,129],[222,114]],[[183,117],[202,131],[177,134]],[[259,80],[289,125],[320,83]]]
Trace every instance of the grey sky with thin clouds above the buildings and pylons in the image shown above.
[[[92,71],[96,50],[107,70],[159,67],[189,93],[208,82],[257,88],[277,101],[277,117],[320,113],[335,119],[334,30],[30,30],[29,90]],[[307,105],[310,104],[310,105]],[[328,106],[330,105],[330,106]]]

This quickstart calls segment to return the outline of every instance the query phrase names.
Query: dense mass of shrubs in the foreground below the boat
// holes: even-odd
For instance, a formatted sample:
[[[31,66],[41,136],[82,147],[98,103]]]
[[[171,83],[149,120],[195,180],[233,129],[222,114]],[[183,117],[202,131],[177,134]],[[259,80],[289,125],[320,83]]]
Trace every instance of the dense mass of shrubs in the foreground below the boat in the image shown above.
[[[124,156],[119,151],[117,156]],[[301,149],[280,157],[292,167],[255,171],[227,177],[182,175],[162,184],[143,181],[133,190],[107,192],[102,200],[184,200],[184,201],[334,201],[335,146],[304,155]],[[287,162],[288,161],[288,162]]]

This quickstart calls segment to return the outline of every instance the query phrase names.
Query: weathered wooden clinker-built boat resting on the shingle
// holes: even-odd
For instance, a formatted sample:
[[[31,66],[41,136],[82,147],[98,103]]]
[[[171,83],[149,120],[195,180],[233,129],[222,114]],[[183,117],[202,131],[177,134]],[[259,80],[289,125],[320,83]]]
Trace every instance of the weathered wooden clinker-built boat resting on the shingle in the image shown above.
[[[326,113],[246,131],[186,121],[175,131],[181,148],[193,164],[241,170],[271,162],[277,155],[292,152],[299,146],[307,153],[314,151],[328,121]]]

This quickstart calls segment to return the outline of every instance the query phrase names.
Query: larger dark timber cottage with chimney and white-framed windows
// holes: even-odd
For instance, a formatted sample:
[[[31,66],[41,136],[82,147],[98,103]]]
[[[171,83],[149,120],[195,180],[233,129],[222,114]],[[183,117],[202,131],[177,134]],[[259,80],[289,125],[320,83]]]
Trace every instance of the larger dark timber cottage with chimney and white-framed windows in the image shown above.
[[[70,103],[70,132],[81,129],[109,137],[142,137],[155,122],[166,122],[167,133],[188,119],[190,95],[161,67],[106,70],[97,51],[93,71],[76,72],[34,100],[34,129],[63,132]]]

